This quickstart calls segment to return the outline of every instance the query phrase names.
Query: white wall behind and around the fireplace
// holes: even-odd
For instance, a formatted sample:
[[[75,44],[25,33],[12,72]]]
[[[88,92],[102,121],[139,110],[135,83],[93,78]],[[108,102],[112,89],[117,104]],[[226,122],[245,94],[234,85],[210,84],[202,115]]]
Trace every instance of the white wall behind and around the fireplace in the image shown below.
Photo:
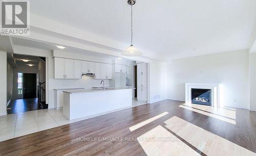
[[[185,83],[221,83],[222,106],[249,108],[248,51],[173,60],[168,64],[168,99],[185,100]]]

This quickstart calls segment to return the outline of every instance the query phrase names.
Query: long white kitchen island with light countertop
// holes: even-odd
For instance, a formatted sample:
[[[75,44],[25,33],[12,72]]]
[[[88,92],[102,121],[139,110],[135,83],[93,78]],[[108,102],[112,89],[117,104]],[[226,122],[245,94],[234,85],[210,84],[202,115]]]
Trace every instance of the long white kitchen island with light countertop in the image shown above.
[[[95,117],[132,107],[134,88],[63,91],[63,115],[69,120]]]

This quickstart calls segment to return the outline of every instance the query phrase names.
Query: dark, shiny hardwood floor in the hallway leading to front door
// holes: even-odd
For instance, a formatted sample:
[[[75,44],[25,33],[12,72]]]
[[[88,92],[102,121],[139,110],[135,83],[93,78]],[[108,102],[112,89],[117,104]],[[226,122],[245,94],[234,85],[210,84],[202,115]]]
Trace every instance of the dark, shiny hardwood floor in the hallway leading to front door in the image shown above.
[[[37,110],[37,98],[11,100],[8,108],[11,108],[7,109],[8,114]]]

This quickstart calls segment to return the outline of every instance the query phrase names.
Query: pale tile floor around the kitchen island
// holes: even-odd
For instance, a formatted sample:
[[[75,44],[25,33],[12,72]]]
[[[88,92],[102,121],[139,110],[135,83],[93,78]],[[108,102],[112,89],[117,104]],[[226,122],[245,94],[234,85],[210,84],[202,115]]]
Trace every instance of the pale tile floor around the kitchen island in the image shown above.
[[[133,107],[145,104],[133,99]],[[40,109],[29,112],[0,116],[0,141],[25,136],[37,131],[81,121],[90,117],[68,120],[62,114],[62,109]]]

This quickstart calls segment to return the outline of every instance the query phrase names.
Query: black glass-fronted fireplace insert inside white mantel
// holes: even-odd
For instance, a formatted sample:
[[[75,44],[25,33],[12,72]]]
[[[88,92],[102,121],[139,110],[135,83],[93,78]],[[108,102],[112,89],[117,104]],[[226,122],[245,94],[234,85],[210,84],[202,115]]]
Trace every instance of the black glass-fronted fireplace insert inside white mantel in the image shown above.
[[[194,104],[211,106],[211,90],[191,88],[191,101]]]

